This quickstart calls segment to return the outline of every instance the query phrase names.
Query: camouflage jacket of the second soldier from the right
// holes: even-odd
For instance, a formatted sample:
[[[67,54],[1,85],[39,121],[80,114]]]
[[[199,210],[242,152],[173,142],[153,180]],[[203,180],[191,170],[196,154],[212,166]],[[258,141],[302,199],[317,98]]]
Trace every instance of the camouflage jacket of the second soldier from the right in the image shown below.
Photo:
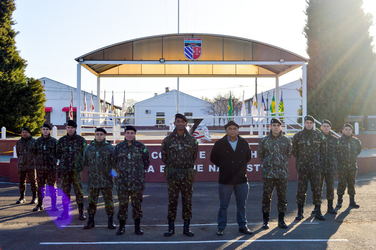
[[[337,165],[335,163],[335,155],[338,147],[338,138],[333,136],[331,132],[324,135],[327,138],[327,151],[321,155],[322,167],[321,173],[335,174]]]

